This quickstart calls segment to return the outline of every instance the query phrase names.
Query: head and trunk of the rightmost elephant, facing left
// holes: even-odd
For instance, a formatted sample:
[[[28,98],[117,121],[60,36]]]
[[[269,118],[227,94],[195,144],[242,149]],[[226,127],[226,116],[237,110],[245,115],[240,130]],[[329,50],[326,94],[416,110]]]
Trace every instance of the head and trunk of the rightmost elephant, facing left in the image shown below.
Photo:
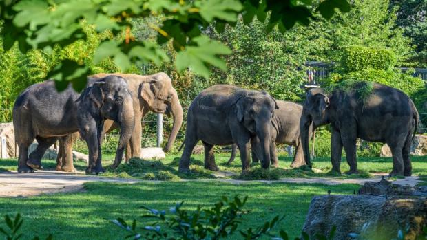
[[[300,136],[304,160],[307,165],[311,165],[309,154],[310,125],[313,124],[314,130],[316,127],[329,123],[327,114],[329,103],[329,97],[324,94],[323,89],[310,89],[306,95],[300,118]]]

